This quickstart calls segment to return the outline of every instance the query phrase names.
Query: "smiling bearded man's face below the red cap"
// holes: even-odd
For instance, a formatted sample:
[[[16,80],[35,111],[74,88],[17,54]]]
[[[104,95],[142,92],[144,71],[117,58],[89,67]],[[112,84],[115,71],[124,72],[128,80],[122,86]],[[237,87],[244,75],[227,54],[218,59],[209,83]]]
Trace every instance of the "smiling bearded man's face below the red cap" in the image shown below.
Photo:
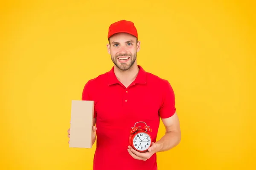
[[[109,38],[108,53],[111,60],[120,70],[128,70],[136,62],[140,41],[133,35],[118,33]]]

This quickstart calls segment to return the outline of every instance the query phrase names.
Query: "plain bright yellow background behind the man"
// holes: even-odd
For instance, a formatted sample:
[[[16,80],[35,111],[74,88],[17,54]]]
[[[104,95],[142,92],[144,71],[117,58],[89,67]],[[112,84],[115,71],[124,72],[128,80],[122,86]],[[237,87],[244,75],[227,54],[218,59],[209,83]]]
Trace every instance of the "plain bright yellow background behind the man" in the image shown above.
[[[138,63],[175,90],[182,141],[158,153],[159,170],[255,170],[255,7],[244,0],[2,2],[0,169],[92,170],[95,146],[68,146],[71,100],[111,69],[108,26],[126,19],[139,32]]]

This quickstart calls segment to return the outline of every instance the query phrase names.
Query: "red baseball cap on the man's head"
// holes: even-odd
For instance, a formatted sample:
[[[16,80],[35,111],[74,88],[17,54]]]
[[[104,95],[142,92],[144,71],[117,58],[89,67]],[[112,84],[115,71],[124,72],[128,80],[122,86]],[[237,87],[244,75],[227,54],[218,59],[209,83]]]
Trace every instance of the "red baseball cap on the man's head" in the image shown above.
[[[125,32],[131,35],[134,35],[135,37],[138,38],[138,32],[136,27],[134,26],[134,23],[131,21],[127,20],[120,20],[115,23],[112,23],[109,26],[108,29],[108,38],[111,37],[112,35],[120,32]]]

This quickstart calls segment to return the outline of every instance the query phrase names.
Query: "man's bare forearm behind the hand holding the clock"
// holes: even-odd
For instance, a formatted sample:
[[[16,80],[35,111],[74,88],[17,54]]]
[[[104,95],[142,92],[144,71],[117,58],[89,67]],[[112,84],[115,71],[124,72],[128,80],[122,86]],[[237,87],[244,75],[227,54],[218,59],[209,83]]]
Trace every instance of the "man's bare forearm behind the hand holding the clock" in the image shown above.
[[[180,131],[166,132],[165,135],[155,144],[158,145],[157,152],[163,152],[172,149],[180,143]]]

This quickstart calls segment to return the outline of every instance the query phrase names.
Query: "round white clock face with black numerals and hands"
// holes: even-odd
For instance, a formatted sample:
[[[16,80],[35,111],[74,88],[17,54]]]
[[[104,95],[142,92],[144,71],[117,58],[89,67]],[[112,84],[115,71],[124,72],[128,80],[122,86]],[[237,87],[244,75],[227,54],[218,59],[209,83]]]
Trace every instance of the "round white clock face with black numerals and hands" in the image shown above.
[[[144,151],[150,147],[151,138],[147,133],[137,133],[133,138],[133,145],[137,150]]]

